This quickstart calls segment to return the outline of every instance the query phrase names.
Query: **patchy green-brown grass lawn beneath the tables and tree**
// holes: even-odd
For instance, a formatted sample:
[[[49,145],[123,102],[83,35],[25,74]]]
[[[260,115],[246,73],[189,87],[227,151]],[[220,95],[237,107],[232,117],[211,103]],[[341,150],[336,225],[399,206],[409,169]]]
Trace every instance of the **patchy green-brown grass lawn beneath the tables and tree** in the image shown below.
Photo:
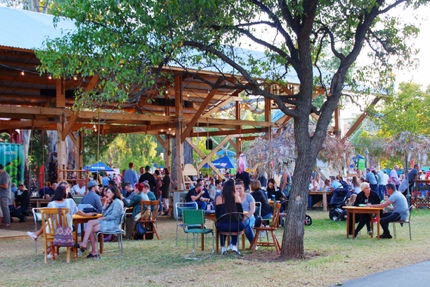
[[[397,226],[397,239],[371,239],[365,228],[356,240],[345,238],[345,222],[334,222],[328,212],[309,211],[313,224],[305,227],[306,260],[279,261],[274,248],[246,250],[242,259],[233,254],[214,255],[202,261],[185,260],[191,252],[179,230],[175,246],[172,219],[159,219],[161,240],[125,241],[124,257],[117,243],[105,243],[100,260],[83,257],[66,263],[65,252],[43,263],[28,240],[0,241],[1,286],[330,286],[372,273],[430,260],[427,222],[430,210],[413,210],[412,241],[407,226]],[[14,224],[25,229],[24,225]],[[208,222],[208,227],[212,224]],[[15,228],[15,227],[14,227]],[[27,228],[33,229],[31,222]],[[390,225],[390,229],[392,227]],[[382,231],[382,230],[381,230]],[[283,229],[277,231],[282,238]],[[393,233],[393,232],[392,232]],[[192,243],[191,237],[189,237]],[[249,243],[247,242],[247,246]],[[206,240],[206,253],[211,239]],[[199,255],[201,251],[197,252]]]

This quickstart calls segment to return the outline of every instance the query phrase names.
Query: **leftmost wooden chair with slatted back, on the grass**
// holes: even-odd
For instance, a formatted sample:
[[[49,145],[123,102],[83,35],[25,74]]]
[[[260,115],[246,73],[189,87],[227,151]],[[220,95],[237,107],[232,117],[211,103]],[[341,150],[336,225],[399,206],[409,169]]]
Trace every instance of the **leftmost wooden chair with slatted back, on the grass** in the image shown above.
[[[56,259],[58,254],[58,247],[52,246],[54,241],[55,232],[57,227],[60,226],[60,218],[58,216],[59,208],[41,208],[40,215],[42,220],[42,230],[43,230],[43,247],[44,247],[44,257],[45,263],[48,262],[48,249],[51,249],[52,259]],[[61,223],[62,227],[68,227],[67,214],[69,213],[68,208],[61,208]],[[65,247],[67,249],[67,263],[70,262],[70,250],[72,247]]]

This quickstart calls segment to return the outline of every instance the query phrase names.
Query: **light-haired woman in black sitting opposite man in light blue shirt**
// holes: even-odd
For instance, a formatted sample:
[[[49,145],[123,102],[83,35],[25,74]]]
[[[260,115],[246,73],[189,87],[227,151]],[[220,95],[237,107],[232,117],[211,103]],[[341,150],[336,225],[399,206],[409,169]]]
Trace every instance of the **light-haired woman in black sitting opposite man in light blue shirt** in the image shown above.
[[[381,200],[379,199],[378,194],[370,190],[370,184],[368,182],[363,182],[361,185],[361,192],[357,195],[355,199],[354,206],[360,205],[371,205],[371,204],[379,204]],[[358,232],[366,225],[367,233],[369,235],[373,235],[373,230],[370,228],[370,214],[360,214],[358,218],[358,226],[354,231],[354,237],[357,237]],[[350,221],[352,222],[352,221]]]

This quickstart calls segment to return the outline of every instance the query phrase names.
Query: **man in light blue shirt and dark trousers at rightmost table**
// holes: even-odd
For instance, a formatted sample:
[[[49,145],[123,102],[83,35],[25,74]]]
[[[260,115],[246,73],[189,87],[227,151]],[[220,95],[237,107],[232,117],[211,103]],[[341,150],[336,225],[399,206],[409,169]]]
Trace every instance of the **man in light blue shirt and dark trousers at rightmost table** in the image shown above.
[[[384,233],[380,236],[383,239],[393,238],[388,229],[390,222],[398,220],[406,220],[409,216],[409,207],[406,197],[398,190],[396,186],[392,183],[386,185],[386,189],[390,197],[387,201],[383,203],[373,205],[374,207],[387,207],[388,205],[393,205],[393,212],[385,212],[381,215],[381,227]]]

